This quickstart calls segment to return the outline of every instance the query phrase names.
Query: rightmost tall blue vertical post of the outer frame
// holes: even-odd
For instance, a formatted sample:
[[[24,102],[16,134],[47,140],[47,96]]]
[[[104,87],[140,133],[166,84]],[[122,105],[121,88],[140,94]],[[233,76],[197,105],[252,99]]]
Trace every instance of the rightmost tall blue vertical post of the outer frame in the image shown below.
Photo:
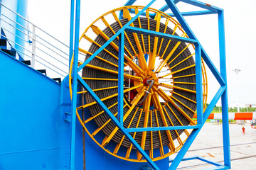
[[[220,45],[220,74],[223,77],[226,89],[221,98],[222,116],[223,116],[223,152],[224,164],[231,167],[230,163],[230,135],[228,124],[228,89],[227,89],[227,71],[225,59],[225,28],[224,28],[224,11],[218,13],[218,30],[219,30],[219,45]]]

